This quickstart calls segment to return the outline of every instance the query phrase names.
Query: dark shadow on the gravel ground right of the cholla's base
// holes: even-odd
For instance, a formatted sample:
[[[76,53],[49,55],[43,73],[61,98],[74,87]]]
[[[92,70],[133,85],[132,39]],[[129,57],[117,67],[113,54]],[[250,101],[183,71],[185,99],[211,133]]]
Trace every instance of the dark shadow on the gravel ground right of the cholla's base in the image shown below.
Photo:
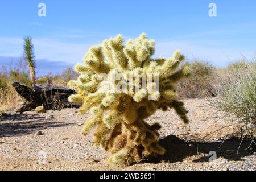
[[[210,151],[215,151],[217,158],[227,160],[243,160],[244,156],[254,155],[256,145],[251,140],[241,140],[239,138],[227,139],[224,142],[191,142],[180,139],[175,135],[168,135],[159,139],[159,143],[166,148],[166,153],[162,156],[147,160],[147,163],[175,163],[182,162],[189,156],[195,156],[195,163],[208,162],[212,155]],[[237,150],[240,148],[238,154]]]

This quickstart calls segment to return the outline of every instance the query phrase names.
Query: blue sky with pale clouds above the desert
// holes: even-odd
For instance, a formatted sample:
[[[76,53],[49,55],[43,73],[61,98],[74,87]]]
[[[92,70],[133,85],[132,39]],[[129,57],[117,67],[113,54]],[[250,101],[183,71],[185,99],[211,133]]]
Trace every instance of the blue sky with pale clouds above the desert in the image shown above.
[[[38,16],[41,2],[46,17]],[[208,15],[211,2],[217,5],[217,17]],[[180,49],[189,60],[225,67],[241,55],[255,55],[255,18],[255,0],[2,1],[0,65],[22,54],[24,36],[34,39],[36,58],[46,64],[38,68],[43,74],[81,62],[88,47],[101,40],[146,32],[156,41],[156,57]]]

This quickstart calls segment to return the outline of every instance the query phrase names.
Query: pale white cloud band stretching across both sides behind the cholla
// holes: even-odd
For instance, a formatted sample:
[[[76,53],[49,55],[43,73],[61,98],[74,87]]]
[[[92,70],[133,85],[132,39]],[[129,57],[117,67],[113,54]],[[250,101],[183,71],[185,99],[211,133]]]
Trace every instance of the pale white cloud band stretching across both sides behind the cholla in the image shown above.
[[[82,56],[89,46],[99,42],[73,43],[65,42],[61,39],[37,38],[33,40],[35,44],[36,59],[50,61],[64,61],[68,64],[75,64],[82,61]],[[22,38],[0,37],[0,56],[20,56],[22,55]],[[231,47],[231,46],[230,46]],[[154,57],[171,57],[172,52],[180,49],[187,59],[209,60],[216,66],[225,66],[230,61],[241,58],[241,55],[248,59],[255,55],[255,50],[231,49],[212,40],[193,41],[173,41],[161,42],[156,40],[156,52]]]

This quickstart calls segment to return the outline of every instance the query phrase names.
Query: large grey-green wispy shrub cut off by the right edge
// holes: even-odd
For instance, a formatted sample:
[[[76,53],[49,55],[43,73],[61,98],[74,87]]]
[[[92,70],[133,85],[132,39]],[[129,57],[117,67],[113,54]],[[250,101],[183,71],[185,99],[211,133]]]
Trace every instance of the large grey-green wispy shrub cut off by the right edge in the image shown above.
[[[255,131],[256,64],[242,61],[229,65],[215,87],[217,98],[210,103]]]

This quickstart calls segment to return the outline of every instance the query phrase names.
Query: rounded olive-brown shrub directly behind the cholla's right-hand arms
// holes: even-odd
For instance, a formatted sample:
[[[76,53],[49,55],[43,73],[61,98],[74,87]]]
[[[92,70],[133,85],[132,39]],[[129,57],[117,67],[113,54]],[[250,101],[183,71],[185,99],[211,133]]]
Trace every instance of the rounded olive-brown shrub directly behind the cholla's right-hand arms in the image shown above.
[[[209,62],[195,60],[191,64],[193,76],[177,83],[177,92],[181,98],[200,98],[213,96],[212,82],[215,68]]]

